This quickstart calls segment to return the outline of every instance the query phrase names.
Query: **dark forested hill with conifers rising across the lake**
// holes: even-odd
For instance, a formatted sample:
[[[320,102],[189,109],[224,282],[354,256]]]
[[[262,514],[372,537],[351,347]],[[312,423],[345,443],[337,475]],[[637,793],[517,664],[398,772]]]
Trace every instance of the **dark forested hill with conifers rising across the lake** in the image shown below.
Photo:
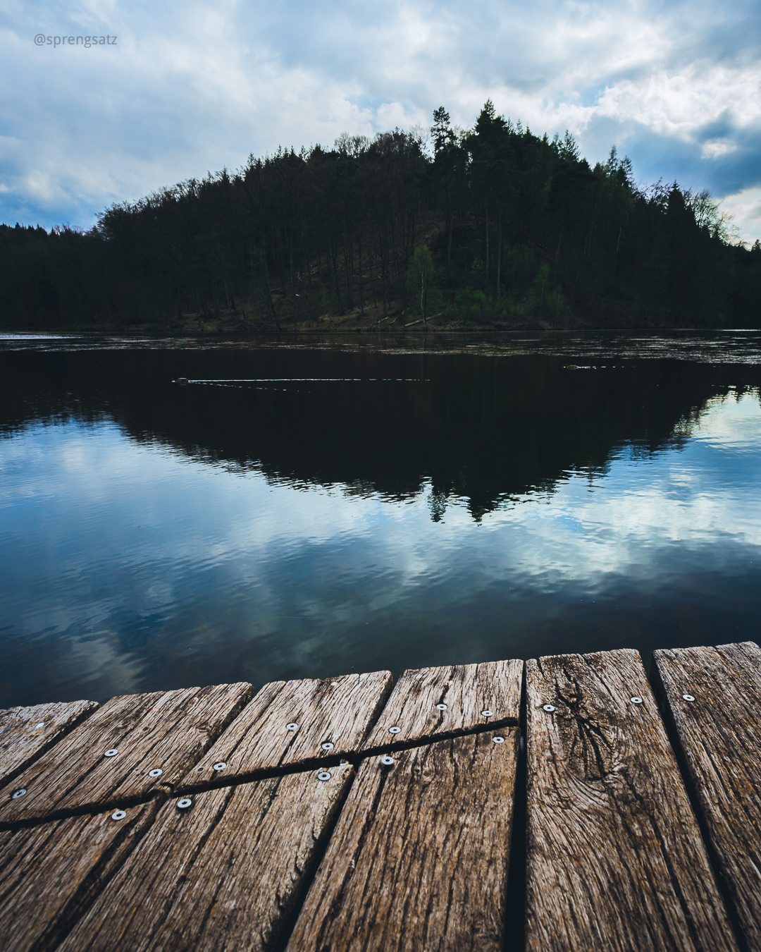
[[[761,327],[761,243],[708,191],[595,168],[491,102],[279,149],[107,208],[89,231],[0,226],[0,325]]]

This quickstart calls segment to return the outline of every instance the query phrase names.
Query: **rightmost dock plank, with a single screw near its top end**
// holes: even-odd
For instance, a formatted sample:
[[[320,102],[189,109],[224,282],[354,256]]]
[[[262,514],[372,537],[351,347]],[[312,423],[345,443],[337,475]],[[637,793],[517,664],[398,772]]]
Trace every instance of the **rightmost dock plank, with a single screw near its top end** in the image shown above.
[[[761,649],[674,648],[653,662],[741,931],[761,948]]]

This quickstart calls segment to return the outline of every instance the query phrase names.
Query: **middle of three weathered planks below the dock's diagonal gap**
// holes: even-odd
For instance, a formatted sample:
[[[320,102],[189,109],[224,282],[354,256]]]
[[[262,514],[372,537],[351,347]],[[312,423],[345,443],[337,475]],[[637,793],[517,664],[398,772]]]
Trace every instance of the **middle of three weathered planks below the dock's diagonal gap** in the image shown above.
[[[317,863],[353,768],[169,801],[59,952],[267,952]]]

